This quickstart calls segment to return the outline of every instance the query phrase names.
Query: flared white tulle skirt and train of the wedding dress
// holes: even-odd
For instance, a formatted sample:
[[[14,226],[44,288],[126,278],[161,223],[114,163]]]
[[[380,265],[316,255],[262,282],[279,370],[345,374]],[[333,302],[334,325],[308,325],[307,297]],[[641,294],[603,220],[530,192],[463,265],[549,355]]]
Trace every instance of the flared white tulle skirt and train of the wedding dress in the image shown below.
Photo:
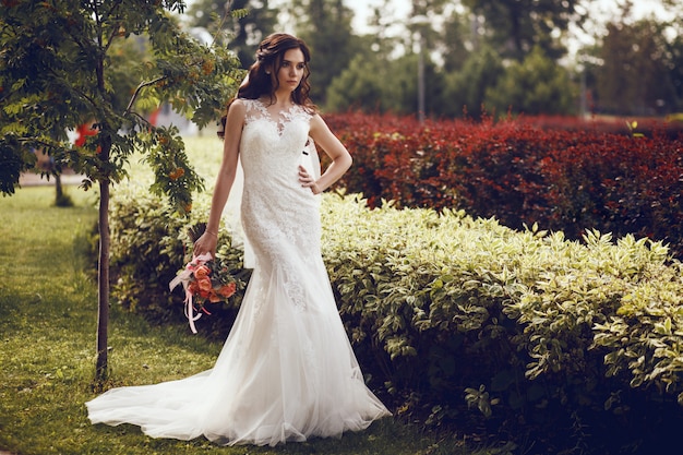
[[[364,384],[322,259],[297,267],[256,267],[213,369],[110,390],[86,403],[91,421],[133,423],[154,438],[276,445],[340,436],[390,415]]]

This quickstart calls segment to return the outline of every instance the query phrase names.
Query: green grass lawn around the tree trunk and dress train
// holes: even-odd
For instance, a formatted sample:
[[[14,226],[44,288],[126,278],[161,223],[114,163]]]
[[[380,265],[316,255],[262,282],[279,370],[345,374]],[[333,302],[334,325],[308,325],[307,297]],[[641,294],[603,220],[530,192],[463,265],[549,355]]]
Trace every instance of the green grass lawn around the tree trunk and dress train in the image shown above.
[[[52,206],[52,187],[0,197],[0,448],[31,454],[472,454],[394,419],[342,440],[271,447],[221,447],[204,439],[155,440],[139,428],[92,426],[97,287],[85,255],[96,195],[67,189],[73,207]],[[111,308],[110,384],[148,384],[212,367],[220,345],[185,326],[152,327]],[[211,393],[211,391],[197,391]],[[500,453],[482,450],[477,454]]]

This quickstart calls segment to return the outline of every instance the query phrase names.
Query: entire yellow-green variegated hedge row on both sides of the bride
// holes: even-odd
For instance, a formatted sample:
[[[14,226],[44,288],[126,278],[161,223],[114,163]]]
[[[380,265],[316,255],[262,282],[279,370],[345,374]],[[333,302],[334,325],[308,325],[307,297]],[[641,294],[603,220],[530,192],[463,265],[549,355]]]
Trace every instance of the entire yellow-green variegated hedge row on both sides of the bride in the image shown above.
[[[683,265],[661,243],[597,231],[579,243],[447,208],[323,201],[339,311],[371,386],[397,415],[536,441],[535,453],[656,451],[678,434]],[[200,197],[197,212],[207,204]],[[113,207],[117,295],[158,322],[181,321],[182,296],[167,284],[192,220],[142,189],[117,193]],[[239,250],[223,252],[240,265]],[[200,332],[225,336],[240,296]]]

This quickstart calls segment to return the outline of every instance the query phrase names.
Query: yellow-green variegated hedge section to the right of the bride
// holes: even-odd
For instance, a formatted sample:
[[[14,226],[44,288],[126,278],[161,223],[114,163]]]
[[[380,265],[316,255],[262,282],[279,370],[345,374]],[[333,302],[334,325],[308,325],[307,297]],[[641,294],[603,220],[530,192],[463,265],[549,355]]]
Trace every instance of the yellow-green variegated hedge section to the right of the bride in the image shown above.
[[[638,404],[681,396],[683,268],[661,243],[597,231],[568,241],[354,197],[324,208],[348,331],[399,411],[462,421],[468,402],[556,431],[582,414],[639,420]]]

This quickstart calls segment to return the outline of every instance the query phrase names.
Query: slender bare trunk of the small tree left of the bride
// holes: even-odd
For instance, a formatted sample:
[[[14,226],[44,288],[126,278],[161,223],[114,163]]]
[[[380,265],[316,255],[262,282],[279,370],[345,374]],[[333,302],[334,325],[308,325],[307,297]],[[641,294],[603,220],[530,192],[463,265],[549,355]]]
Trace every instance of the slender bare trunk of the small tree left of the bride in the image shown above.
[[[108,375],[109,331],[109,180],[99,182],[99,261],[97,267],[97,363],[95,376],[104,381]]]

